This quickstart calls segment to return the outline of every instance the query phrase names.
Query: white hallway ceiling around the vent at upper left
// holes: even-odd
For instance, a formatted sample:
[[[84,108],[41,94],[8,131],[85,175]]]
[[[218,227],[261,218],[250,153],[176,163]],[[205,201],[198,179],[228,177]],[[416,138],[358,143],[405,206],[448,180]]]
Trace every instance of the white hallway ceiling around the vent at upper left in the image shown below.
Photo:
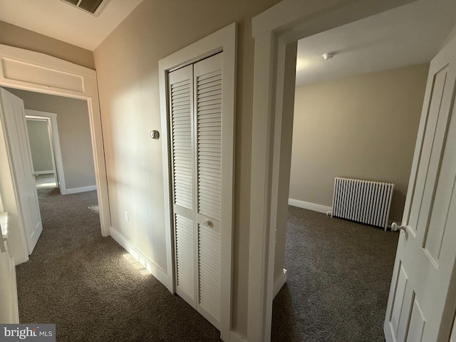
[[[93,16],[61,0],[0,0],[0,20],[90,51],[142,0],[110,0]]]

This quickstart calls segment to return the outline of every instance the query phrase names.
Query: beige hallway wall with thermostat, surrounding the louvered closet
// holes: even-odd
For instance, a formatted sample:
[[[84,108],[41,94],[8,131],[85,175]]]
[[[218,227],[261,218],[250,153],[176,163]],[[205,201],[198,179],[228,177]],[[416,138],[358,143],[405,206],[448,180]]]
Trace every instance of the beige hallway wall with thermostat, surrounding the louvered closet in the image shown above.
[[[252,16],[278,0],[145,0],[94,51],[112,224],[166,269],[158,61],[239,24],[234,223],[234,330],[247,334],[254,40]],[[130,214],[129,222],[124,211]]]

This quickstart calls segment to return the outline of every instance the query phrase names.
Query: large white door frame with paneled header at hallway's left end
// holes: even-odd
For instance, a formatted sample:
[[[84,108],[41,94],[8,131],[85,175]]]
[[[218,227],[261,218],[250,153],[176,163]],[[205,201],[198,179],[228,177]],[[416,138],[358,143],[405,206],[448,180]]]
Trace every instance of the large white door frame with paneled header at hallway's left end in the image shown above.
[[[0,66],[0,86],[87,101],[101,234],[109,236],[108,182],[96,72],[44,53],[2,44]],[[21,260],[28,260],[26,250],[14,252]]]

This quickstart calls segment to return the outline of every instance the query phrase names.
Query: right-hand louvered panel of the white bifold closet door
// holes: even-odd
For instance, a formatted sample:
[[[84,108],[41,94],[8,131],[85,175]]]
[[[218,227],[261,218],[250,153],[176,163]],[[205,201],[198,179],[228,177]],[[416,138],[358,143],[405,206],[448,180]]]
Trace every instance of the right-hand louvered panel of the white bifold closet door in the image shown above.
[[[197,309],[220,321],[222,205],[222,53],[195,63]]]

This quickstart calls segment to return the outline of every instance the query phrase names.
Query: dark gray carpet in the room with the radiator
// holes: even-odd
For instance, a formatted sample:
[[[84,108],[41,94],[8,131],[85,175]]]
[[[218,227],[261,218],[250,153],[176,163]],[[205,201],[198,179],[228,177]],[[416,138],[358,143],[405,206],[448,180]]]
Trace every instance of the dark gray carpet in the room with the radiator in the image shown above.
[[[383,338],[397,232],[289,207],[287,284],[274,299],[274,342]]]

